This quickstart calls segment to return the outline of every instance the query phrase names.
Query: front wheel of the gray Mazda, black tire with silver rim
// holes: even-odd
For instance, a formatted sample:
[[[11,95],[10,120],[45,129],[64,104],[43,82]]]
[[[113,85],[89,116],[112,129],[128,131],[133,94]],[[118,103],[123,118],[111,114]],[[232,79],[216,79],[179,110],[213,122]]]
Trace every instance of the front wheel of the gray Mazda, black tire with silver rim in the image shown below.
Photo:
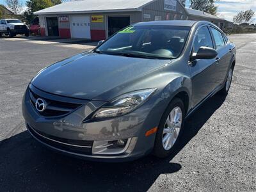
[[[177,111],[177,113],[181,113],[180,115],[178,115],[180,121],[177,121],[179,122],[180,126],[178,126],[179,125],[178,123],[176,124],[176,126],[174,126],[175,124],[172,123],[172,126],[180,127],[180,128],[173,129],[172,126],[167,125],[168,124],[167,120],[169,119],[170,122],[174,122],[172,121],[172,119],[175,119],[175,118],[172,118],[170,115],[175,116],[175,111]],[[171,154],[173,154],[173,152],[175,152],[175,149],[179,145],[182,132],[184,131],[183,130],[184,118],[185,118],[185,108],[182,100],[180,100],[179,98],[173,99],[172,102],[170,102],[168,108],[166,108],[166,110],[164,111],[164,114],[159,123],[157,134],[156,134],[156,141],[155,141],[154,150],[153,150],[154,156],[157,156],[159,158],[164,158],[164,157],[170,156]],[[169,128],[169,127],[172,127],[172,128]],[[166,138],[168,137],[170,137],[170,140],[169,139],[166,140]],[[166,141],[164,142],[164,140]],[[170,141],[170,143],[169,145],[166,146],[166,142],[168,140]]]

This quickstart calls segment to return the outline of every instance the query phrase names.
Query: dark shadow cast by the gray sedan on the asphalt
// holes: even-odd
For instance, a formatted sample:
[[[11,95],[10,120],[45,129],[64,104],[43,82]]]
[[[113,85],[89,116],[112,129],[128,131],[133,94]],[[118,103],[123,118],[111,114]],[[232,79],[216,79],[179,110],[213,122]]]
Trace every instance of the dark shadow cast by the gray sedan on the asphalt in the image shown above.
[[[0,191],[147,191],[159,175],[180,170],[181,164],[170,161],[224,101],[215,95],[188,118],[180,147],[167,159],[94,163],[51,152],[28,131],[17,134],[0,142]]]

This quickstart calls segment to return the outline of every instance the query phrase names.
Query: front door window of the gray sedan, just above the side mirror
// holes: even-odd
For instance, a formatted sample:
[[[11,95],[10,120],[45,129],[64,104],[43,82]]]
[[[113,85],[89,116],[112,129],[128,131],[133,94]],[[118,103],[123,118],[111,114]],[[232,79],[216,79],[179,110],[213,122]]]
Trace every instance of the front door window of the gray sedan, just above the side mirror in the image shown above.
[[[196,34],[193,52],[198,52],[198,49],[202,46],[213,48],[211,34],[207,26],[200,28]]]

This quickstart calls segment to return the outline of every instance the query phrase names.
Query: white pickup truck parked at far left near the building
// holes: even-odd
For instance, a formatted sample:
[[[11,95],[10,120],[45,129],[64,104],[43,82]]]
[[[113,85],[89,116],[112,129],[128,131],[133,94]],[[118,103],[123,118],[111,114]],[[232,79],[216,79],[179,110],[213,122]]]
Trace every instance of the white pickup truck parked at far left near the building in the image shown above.
[[[29,36],[29,28],[19,19],[1,19],[0,20],[0,36],[8,35],[13,37],[15,35]]]

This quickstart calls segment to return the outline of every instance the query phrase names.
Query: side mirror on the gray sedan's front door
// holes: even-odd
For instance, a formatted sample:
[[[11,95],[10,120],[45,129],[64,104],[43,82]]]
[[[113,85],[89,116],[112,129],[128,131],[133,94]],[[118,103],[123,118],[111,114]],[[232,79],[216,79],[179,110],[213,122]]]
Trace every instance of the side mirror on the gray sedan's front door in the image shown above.
[[[212,49],[211,47],[200,47],[198,52],[194,52],[192,54],[191,60],[211,60],[213,58],[216,58],[218,55],[218,52],[215,49]]]

